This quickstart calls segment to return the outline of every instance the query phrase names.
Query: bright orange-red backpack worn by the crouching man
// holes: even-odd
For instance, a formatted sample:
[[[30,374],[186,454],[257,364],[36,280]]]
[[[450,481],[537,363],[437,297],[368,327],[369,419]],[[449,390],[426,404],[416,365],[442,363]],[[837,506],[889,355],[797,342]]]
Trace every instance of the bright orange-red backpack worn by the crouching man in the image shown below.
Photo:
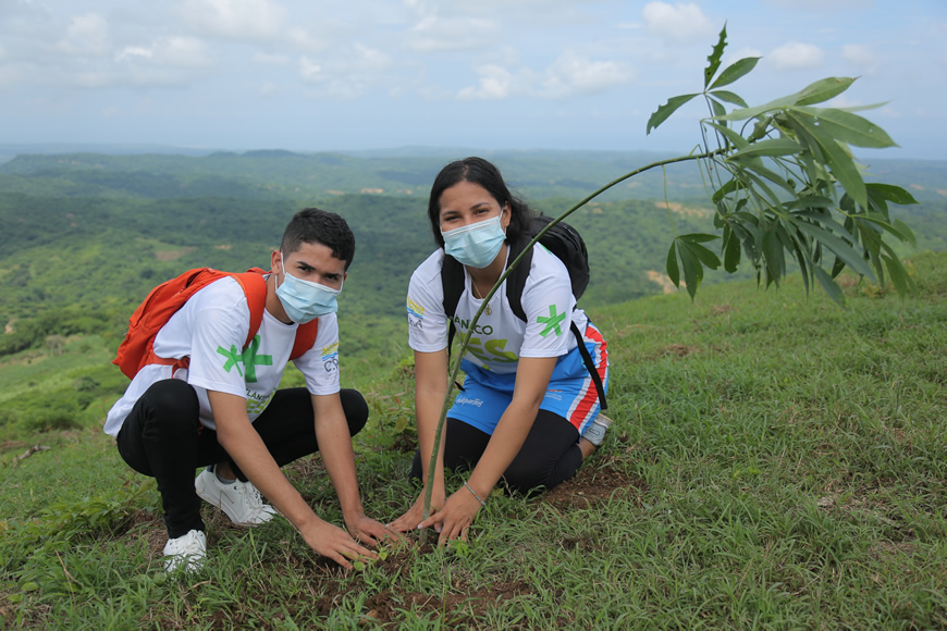
[[[187,368],[189,357],[169,359],[155,355],[155,337],[162,326],[181,309],[187,299],[198,289],[230,276],[243,287],[247,296],[247,305],[250,308],[250,330],[244,348],[257,335],[260,322],[263,319],[263,309],[267,306],[267,282],[263,279],[263,270],[250,268],[243,273],[221,272],[211,268],[199,268],[184,272],[176,279],[161,283],[148,294],[132,317],[128,319],[128,332],[119,345],[119,350],[112,363],[122,369],[128,379],[135,379],[142,368],[149,363],[162,366],[175,366]],[[300,324],[296,329],[296,342],[293,344],[293,352],[290,359],[296,359],[312,347],[316,342],[319,320],[312,320]]]

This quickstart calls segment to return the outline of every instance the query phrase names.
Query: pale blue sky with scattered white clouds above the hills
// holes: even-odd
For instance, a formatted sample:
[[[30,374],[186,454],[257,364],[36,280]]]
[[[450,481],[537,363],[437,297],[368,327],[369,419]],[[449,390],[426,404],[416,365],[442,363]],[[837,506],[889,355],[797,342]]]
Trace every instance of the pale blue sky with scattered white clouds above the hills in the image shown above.
[[[686,153],[698,100],[647,122],[724,25],[751,106],[859,77],[883,157],[945,159],[947,0],[0,0],[0,144]]]

